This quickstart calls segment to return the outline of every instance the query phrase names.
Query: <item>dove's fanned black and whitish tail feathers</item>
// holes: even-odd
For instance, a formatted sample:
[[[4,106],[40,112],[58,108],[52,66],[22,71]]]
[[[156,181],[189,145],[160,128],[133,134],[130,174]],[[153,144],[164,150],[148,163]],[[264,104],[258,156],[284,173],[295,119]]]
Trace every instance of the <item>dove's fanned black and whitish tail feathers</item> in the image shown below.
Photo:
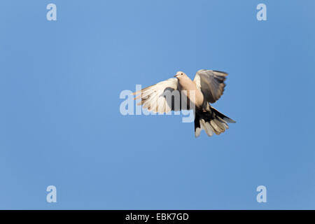
[[[229,128],[228,123],[235,123],[235,120],[228,118],[212,106],[210,111],[196,111],[195,137],[199,137],[202,130],[204,130],[209,137],[211,137],[214,133],[221,134]]]

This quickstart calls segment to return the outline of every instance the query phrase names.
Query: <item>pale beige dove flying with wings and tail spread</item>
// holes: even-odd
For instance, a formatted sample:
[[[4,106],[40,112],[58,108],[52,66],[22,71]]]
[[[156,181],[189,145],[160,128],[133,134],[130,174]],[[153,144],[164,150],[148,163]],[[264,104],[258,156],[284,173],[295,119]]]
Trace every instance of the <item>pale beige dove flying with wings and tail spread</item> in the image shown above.
[[[155,113],[169,113],[181,109],[193,109],[195,113],[195,137],[204,130],[209,137],[221,134],[235,120],[214,109],[211,104],[223,94],[228,73],[201,69],[191,80],[186,73],[178,71],[174,77],[134,92],[134,99],[141,99],[138,105]],[[174,92],[183,92],[176,97]],[[172,97],[167,97],[166,93]]]

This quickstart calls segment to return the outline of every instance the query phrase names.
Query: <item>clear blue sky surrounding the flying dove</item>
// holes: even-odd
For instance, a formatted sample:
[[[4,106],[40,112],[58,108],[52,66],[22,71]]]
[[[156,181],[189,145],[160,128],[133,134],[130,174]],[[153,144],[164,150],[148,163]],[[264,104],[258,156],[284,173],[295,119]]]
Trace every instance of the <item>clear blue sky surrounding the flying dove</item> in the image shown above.
[[[315,209],[314,7],[0,1],[0,209]],[[122,90],[198,69],[229,73],[227,132],[120,114]]]

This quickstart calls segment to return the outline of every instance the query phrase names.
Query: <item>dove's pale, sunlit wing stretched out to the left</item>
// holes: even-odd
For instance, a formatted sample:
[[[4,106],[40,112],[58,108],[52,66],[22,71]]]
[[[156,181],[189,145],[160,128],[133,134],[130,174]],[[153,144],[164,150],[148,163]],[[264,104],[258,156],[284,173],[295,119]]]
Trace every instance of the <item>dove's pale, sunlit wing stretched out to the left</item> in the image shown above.
[[[169,78],[134,92],[133,94],[139,94],[134,99],[141,99],[141,102],[137,105],[142,105],[144,109],[154,111],[155,113],[169,113],[169,111],[180,110],[180,108],[174,107],[174,100],[176,100],[174,99],[176,94],[173,94],[174,97],[172,97],[174,90],[178,90],[177,78]],[[180,100],[177,99],[176,102],[180,102]]]

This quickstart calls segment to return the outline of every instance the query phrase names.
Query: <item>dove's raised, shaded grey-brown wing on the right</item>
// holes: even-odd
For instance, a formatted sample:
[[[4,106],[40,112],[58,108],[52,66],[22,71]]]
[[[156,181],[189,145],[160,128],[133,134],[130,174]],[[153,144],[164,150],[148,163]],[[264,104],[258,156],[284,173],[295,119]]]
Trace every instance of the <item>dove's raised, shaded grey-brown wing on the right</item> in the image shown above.
[[[209,103],[216,102],[223,94],[225,79],[228,73],[202,69],[197,71],[194,82]]]

